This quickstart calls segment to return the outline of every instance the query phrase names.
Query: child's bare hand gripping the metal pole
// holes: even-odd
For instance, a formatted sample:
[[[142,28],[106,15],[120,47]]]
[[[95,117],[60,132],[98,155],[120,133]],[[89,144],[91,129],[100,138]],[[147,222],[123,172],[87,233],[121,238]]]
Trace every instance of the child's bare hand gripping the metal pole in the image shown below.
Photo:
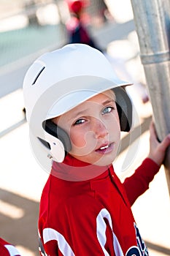
[[[157,165],[163,163],[165,158],[166,148],[170,145],[170,134],[163,139],[162,142],[159,142],[156,137],[155,125],[153,121],[150,124],[150,153],[148,157],[152,159]]]

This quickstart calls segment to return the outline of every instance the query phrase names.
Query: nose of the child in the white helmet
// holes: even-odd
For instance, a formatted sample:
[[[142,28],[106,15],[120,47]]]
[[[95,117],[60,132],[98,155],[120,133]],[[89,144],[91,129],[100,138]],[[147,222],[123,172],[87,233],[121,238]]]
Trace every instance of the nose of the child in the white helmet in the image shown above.
[[[93,132],[96,138],[104,138],[108,135],[106,125],[101,120],[98,120],[96,118],[93,122]]]

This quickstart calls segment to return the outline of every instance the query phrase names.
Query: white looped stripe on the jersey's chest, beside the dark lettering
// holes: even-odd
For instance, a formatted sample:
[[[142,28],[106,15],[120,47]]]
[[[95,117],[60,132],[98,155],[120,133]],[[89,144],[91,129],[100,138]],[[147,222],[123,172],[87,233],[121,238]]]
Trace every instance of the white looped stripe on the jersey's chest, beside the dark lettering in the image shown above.
[[[109,214],[109,211],[107,211],[107,209],[103,208],[96,219],[96,224],[97,224],[97,238],[98,238],[98,242],[101,245],[101,248],[104,252],[104,255],[109,256],[109,253],[107,252],[107,250],[104,248],[106,241],[107,241],[107,237],[106,237],[106,230],[107,230],[107,224],[104,221],[104,218],[106,218],[109,222],[109,226],[112,229],[112,219],[111,216]],[[121,246],[119,244],[119,241],[117,240],[117,237],[115,236],[115,233],[113,232],[112,229],[112,233],[113,233],[113,247],[115,249],[115,255],[116,256],[123,256],[123,251],[121,249]]]

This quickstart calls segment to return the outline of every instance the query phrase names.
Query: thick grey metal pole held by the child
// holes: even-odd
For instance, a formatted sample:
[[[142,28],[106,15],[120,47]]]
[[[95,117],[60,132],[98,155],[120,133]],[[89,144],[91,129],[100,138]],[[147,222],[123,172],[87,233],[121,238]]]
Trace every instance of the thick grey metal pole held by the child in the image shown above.
[[[170,132],[170,1],[131,0],[158,139]],[[170,148],[164,162],[170,194]]]

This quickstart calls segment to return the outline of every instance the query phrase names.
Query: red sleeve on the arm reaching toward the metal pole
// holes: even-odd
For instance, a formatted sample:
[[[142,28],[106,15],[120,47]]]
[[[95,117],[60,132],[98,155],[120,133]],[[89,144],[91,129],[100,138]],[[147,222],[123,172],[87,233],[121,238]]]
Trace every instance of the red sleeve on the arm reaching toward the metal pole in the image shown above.
[[[123,184],[131,206],[140,195],[149,189],[149,184],[159,169],[160,166],[152,159],[146,158],[132,176],[125,178]]]

